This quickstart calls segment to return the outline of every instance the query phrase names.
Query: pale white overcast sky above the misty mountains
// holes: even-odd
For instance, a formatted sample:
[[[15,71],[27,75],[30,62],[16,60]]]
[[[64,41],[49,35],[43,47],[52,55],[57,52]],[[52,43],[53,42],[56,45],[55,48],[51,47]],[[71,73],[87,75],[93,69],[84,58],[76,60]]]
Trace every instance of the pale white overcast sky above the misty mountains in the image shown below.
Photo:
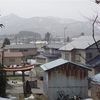
[[[83,20],[84,17],[96,16],[100,4],[95,0],[0,0],[2,16],[16,14],[20,17],[62,17]]]

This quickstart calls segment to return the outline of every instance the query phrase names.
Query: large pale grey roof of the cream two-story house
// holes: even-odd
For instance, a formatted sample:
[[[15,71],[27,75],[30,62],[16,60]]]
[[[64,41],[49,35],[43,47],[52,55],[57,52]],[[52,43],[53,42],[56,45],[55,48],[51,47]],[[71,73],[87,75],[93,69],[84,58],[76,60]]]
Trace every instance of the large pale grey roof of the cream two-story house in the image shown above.
[[[100,36],[95,36],[96,41],[100,40]],[[67,45],[61,47],[59,50],[71,51],[73,49],[86,49],[93,45],[95,42],[92,36],[81,36],[76,40],[68,43]]]

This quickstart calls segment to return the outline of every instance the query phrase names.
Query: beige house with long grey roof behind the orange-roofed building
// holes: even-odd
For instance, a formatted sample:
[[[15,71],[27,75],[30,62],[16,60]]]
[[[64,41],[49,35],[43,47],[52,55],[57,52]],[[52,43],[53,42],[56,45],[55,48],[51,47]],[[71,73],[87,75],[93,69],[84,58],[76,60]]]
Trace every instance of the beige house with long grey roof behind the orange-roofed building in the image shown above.
[[[21,52],[23,55],[23,63],[25,63],[27,59],[32,59],[37,55],[37,47],[35,44],[6,45],[3,50],[4,52]]]

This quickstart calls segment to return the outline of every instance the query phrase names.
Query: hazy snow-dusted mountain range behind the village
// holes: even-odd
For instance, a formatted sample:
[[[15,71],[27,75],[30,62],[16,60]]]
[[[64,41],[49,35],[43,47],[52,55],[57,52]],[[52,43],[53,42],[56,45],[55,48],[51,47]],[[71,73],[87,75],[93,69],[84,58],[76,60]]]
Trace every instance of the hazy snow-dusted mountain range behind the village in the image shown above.
[[[18,34],[20,31],[32,31],[44,36],[50,32],[53,36],[64,36],[64,28],[66,36],[75,37],[79,36],[82,32],[85,35],[92,35],[92,22],[81,22],[68,18],[56,17],[32,17],[21,18],[15,14],[4,16],[0,18],[0,23],[4,24],[1,29],[3,34]],[[95,27],[95,34],[100,31]]]

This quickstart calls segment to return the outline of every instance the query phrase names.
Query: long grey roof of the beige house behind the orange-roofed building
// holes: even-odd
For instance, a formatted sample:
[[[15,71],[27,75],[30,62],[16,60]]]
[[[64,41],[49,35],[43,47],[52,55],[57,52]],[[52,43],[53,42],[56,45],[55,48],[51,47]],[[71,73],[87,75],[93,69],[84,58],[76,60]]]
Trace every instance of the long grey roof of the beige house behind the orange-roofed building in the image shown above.
[[[37,48],[35,44],[16,44],[6,45],[4,49],[26,49],[26,48]]]

